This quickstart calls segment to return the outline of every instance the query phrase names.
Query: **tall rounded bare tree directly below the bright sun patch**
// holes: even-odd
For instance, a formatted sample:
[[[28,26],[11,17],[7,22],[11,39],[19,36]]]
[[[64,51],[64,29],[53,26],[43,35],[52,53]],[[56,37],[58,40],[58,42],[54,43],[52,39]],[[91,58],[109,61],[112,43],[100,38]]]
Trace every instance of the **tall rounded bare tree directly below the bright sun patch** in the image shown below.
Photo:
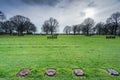
[[[91,19],[91,18],[85,19],[83,22],[84,27],[82,28],[83,33],[86,35],[89,35],[94,24],[95,24],[95,22],[93,19]]]

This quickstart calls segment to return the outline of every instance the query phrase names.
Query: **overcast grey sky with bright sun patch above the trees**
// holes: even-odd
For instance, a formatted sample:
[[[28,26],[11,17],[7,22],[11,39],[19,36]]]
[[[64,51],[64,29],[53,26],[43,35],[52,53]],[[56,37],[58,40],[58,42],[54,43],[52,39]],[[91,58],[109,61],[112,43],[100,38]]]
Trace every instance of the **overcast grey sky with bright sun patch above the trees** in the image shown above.
[[[66,25],[80,24],[87,17],[105,22],[112,13],[120,12],[120,0],[0,0],[0,11],[7,19],[15,15],[30,18],[38,32],[53,17],[62,32]]]

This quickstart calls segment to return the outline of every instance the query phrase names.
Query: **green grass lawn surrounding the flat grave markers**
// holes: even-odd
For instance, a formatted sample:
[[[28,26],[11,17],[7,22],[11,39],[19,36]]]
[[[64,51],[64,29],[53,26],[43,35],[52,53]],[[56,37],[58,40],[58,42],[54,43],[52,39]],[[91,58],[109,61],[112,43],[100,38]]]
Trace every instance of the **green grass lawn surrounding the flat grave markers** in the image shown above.
[[[120,80],[105,69],[120,72],[120,38],[105,36],[0,35],[0,80]],[[23,68],[31,73],[25,78],[16,74]],[[45,76],[47,68],[56,68],[55,77]],[[76,77],[73,68],[81,68],[85,77]]]

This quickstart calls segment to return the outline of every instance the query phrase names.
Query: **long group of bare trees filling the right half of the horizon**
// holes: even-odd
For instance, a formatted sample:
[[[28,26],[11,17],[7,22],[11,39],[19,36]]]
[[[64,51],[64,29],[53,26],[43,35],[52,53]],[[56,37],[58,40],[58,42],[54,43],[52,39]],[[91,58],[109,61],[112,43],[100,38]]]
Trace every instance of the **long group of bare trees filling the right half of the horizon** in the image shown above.
[[[66,26],[63,30],[66,34],[98,34],[98,35],[120,35],[120,12],[113,13],[106,22],[95,25],[92,18],[85,19],[81,24]]]

